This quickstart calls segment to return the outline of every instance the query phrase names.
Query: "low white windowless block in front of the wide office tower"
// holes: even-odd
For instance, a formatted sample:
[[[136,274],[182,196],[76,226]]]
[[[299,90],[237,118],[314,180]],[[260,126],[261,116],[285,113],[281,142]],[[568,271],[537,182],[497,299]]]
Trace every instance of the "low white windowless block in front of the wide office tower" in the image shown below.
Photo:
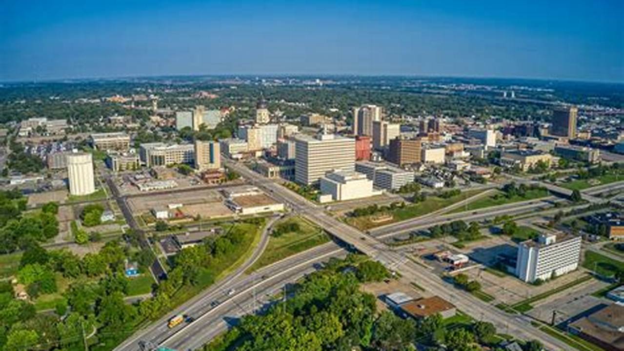
[[[373,190],[373,181],[356,171],[333,171],[321,177],[321,193],[333,201],[345,201],[381,195]]]

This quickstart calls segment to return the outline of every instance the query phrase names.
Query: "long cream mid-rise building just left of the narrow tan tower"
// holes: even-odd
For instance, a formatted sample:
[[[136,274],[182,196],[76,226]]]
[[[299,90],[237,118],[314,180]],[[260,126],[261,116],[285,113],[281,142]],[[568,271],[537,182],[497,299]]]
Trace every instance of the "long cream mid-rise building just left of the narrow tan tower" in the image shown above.
[[[144,143],[139,149],[141,161],[146,166],[169,166],[180,163],[193,165],[195,162],[195,145],[165,143]]]

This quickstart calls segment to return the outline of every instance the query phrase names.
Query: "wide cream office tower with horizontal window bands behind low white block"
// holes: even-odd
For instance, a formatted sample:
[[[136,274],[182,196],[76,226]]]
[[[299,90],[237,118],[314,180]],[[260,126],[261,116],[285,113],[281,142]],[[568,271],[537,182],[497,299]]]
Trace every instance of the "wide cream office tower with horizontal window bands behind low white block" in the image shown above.
[[[354,170],[355,140],[333,134],[295,137],[295,181],[317,183],[328,171]]]

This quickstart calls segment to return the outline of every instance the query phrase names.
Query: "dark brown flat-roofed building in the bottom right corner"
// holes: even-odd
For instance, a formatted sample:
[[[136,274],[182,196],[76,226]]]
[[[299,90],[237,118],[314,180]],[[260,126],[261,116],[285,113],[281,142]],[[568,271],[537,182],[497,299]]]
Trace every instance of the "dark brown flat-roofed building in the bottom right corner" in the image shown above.
[[[624,306],[610,304],[568,324],[568,331],[608,351],[624,350]]]

